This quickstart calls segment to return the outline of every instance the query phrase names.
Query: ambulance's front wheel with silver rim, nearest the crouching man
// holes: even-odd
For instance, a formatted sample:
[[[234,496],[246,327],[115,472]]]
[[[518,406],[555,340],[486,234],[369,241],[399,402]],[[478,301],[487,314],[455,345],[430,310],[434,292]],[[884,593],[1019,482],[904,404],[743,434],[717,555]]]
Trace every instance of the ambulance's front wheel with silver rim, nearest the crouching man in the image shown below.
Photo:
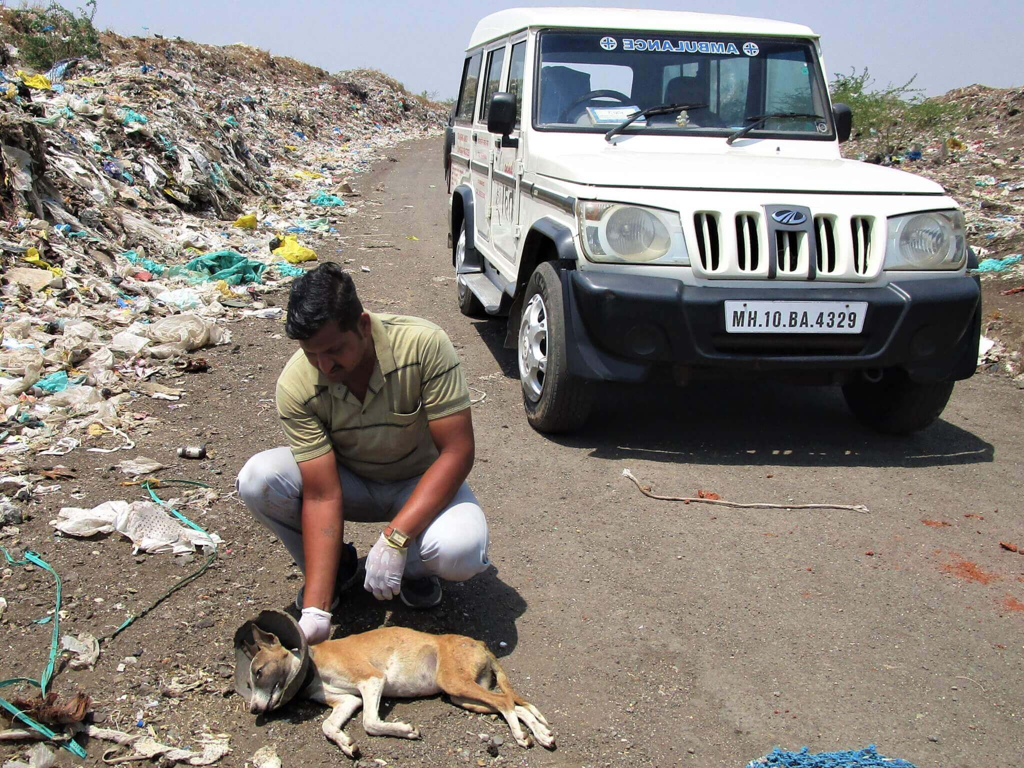
[[[539,432],[570,432],[590,415],[592,390],[569,373],[567,352],[562,283],[544,262],[526,284],[516,336],[523,409]]]

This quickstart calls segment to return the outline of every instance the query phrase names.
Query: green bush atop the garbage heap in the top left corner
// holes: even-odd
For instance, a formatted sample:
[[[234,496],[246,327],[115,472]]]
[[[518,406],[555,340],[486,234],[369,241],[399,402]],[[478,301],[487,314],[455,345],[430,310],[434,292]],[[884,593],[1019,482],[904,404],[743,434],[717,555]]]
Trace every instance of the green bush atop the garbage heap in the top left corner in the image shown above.
[[[99,33],[92,24],[96,0],[87,0],[77,13],[51,2],[45,7],[19,8],[12,16],[22,58],[37,70],[48,70],[66,58],[100,56]]]

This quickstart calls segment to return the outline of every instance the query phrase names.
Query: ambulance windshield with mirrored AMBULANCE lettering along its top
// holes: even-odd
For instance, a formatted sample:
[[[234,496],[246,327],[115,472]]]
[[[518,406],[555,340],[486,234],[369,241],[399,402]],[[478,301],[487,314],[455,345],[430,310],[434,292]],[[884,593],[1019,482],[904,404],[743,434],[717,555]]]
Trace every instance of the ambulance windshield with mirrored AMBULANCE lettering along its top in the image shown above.
[[[808,40],[640,32],[544,32],[534,124],[606,132],[658,104],[697,109],[641,118],[630,133],[728,136],[774,113],[821,115],[762,121],[750,138],[833,139],[814,47]]]

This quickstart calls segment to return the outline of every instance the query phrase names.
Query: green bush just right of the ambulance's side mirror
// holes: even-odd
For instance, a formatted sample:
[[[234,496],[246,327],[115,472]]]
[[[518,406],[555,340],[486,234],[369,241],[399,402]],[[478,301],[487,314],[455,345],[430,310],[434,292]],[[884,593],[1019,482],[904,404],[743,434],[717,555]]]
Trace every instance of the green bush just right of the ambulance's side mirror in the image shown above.
[[[866,68],[859,73],[853,69],[849,75],[837,74],[828,91],[833,102],[849,104],[853,111],[853,138],[894,152],[929,134],[948,131],[959,115],[955,104],[925,98],[924,91],[913,87],[916,78],[876,88]]]

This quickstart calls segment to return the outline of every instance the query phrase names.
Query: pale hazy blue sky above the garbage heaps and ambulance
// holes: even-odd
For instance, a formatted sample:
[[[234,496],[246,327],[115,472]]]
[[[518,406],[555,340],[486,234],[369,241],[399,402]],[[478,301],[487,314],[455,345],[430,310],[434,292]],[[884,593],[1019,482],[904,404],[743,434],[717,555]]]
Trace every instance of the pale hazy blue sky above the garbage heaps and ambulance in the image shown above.
[[[63,0],[62,4],[75,7],[79,3]],[[978,82],[1024,85],[1024,12],[1019,0],[99,0],[96,22],[123,35],[156,33],[203,43],[245,42],[331,72],[373,67],[412,91],[435,91],[443,98],[454,96],[458,89],[462,51],[477,20],[502,8],[556,4],[685,8],[805,24],[822,37],[829,80],[851,67],[867,67],[880,85],[902,83],[916,74],[915,84],[930,95]]]

